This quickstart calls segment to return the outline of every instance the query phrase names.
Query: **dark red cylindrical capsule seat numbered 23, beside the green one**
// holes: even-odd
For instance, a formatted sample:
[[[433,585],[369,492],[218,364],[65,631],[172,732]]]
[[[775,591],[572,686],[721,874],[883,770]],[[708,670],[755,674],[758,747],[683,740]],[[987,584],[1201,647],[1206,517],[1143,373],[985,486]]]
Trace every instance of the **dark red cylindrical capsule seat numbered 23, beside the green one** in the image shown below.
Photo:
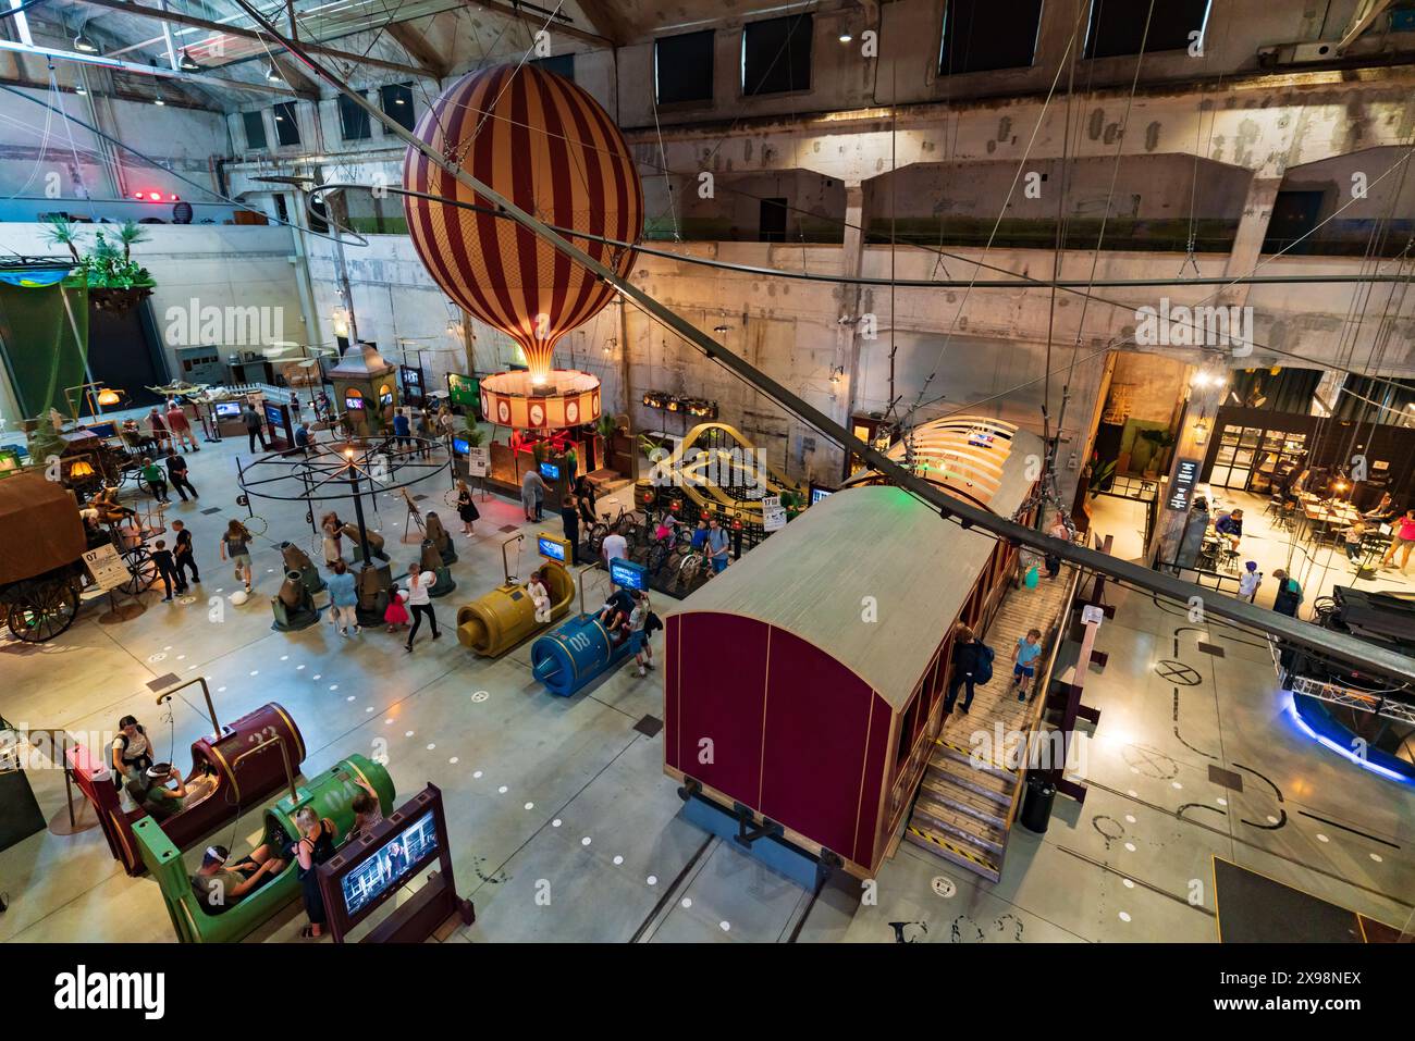
[[[180,850],[195,844],[221,825],[231,823],[239,812],[260,805],[286,784],[280,745],[289,752],[293,775],[299,775],[300,764],[304,762],[300,728],[275,702],[224,726],[221,731],[221,737],[192,741],[191,771],[184,778],[190,785],[198,777],[209,775],[216,784],[204,798],[161,822],[163,832]],[[273,741],[275,737],[280,741]],[[109,755],[108,748],[89,751],[81,744],[69,745],[68,769],[93,803],[113,857],[123,861],[129,874],[136,876],[143,873],[143,859],[133,839],[133,825],[146,818],[147,812],[123,809],[122,798],[113,786]]]

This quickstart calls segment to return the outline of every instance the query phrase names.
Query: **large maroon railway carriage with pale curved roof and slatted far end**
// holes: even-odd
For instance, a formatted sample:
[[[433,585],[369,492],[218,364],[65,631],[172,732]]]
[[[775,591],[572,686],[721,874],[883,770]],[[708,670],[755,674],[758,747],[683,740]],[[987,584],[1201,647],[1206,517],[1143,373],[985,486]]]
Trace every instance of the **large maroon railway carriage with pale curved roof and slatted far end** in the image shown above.
[[[1036,436],[978,419],[918,433],[927,477],[1000,516],[1027,502]],[[664,771],[859,877],[893,850],[928,762],[954,622],[986,625],[1017,553],[872,479],[685,600],[664,653]]]

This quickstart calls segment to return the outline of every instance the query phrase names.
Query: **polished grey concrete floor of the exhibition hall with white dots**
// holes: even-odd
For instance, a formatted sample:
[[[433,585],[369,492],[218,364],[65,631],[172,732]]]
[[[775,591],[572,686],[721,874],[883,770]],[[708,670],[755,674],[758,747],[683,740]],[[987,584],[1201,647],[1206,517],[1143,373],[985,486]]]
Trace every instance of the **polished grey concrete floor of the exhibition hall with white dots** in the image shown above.
[[[185,762],[208,728],[200,692],[188,689],[167,723],[146,683],[204,675],[224,719],[280,702],[304,734],[307,775],[350,752],[386,754],[400,795],[429,781],[443,789],[457,887],[477,907],[475,925],[453,942],[1207,942],[1217,936],[1215,854],[1397,926],[1411,917],[1415,792],[1307,741],[1285,716],[1266,648],[1249,636],[1116,594],[1118,615],[1098,641],[1109,665],[1085,685],[1102,716],[1074,762],[1084,805],[1058,799],[1043,836],[1015,830],[998,884],[904,843],[874,885],[838,878],[812,897],[679,816],[661,738],[635,730],[662,714],[661,673],[623,669],[559,699],[531,680],[528,645],[494,662],[457,645],[457,604],[501,581],[505,539],[538,528],[518,502],[487,499],[475,537],[454,536],[458,588],[437,601],[449,634],[436,644],[420,635],[408,655],[399,636],[374,629],[354,639],[323,624],[277,634],[272,545],[255,557],[258,595],[241,607],[225,600],[236,586],[216,536],[245,513],[235,506],[238,454],[243,441],[204,446],[191,458],[201,501],[168,512],[195,533],[202,597],[163,604],[149,594],[147,610],[119,624],[93,604],[45,646],[7,638],[0,714],[30,728],[110,731],[133,713],[163,755],[171,748]],[[424,485],[412,491],[437,509],[446,477]],[[209,508],[219,512],[201,512]],[[256,511],[267,540],[310,535],[299,506]],[[396,545],[405,511],[392,498],[379,511],[374,526],[389,537],[396,576],[412,559]],[[453,512],[439,512],[456,530]],[[524,574],[521,552],[511,559]],[[750,554],[734,566],[750,567]],[[597,581],[590,603],[604,593]],[[221,621],[205,600],[216,595]],[[1210,767],[1237,775],[1242,791]],[[33,769],[30,779],[51,827],[0,853],[10,901],[0,938],[170,941],[153,881],[123,874],[96,827],[64,833],[62,774]],[[250,808],[218,840],[243,849],[258,827]],[[252,939],[290,941],[301,921],[291,907]]]

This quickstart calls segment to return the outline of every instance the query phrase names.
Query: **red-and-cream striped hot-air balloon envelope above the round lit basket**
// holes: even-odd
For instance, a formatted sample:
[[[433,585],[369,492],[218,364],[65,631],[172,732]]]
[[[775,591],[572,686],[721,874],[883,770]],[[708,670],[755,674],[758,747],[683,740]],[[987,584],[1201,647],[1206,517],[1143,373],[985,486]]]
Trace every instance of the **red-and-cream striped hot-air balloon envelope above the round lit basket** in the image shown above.
[[[449,86],[415,130],[494,191],[549,225],[638,242],[644,190],[618,127],[570,81],[533,65],[471,72]],[[409,149],[403,187],[495,209],[437,164]],[[403,197],[419,257],[443,291],[526,355],[545,383],[555,342],[594,317],[614,289],[515,221]],[[586,253],[628,274],[634,250],[566,235]]]

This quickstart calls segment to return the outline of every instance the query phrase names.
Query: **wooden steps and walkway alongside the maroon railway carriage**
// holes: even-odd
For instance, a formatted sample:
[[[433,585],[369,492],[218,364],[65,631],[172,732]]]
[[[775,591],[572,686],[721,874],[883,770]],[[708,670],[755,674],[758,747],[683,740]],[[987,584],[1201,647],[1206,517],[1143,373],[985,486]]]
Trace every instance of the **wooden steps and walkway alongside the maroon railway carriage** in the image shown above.
[[[1054,580],[1034,590],[1010,590],[1003,598],[983,642],[996,655],[992,680],[976,687],[966,714],[958,704],[944,717],[928,768],[918,786],[904,837],[930,853],[965,867],[989,881],[1002,877],[1007,832],[1022,802],[1024,769],[1009,765],[1017,757],[1015,745],[1032,740],[1041,719],[1039,697],[1049,682],[1047,668],[1060,622],[1071,603],[1075,573],[1067,567]],[[1012,659],[1017,641],[1027,629],[1043,634],[1043,653],[1032,694],[1019,702],[1012,689]],[[986,740],[982,740],[986,735]],[[979,738],[975,743],[975,737]]]

